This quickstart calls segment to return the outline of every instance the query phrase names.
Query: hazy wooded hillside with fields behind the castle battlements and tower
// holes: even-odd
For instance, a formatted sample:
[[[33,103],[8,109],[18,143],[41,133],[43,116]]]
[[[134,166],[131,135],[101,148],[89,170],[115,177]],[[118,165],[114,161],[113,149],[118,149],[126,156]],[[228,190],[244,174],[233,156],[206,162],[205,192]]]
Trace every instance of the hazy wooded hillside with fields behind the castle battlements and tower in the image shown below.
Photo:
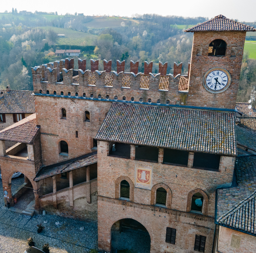
[[[15,10],[0,13],[1,87],[33,89],[30,67],[60,60],[61,57],[54,56],[56,49],[81,49],[79,58],[100,59],[99,70],[103,70],[103,59],[112,59],[115,70],[118,59],[127,63],[139,61],[141,72],[144,61],[153,61],[155,73],[159,61],[168,62],[167,73],[172,73],[174,62],[183,62],[182,71],[187,72],[193,33],[184,30],[208,19],[156,14],[135,14],[127,18],[38,11],[21,14]],[[65,34],[65,38],[57,34]],[[248,58],[249,53],[243,63],[241,97],[246,97],[248,87],[255,82],[255,60]],[[90,61],[87,61],[87,69],[90,69]],[[129,64],[126,64],[126,71],[129,71]]]

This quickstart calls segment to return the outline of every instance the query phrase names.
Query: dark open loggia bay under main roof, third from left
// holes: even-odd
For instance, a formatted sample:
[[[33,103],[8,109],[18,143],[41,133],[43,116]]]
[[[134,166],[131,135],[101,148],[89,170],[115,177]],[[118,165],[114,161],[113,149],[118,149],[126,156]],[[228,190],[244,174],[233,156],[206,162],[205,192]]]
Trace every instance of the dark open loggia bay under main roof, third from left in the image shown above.
[[[187,166],[189,152],[184,150],[165,148],[163,151],[163,163],[172,163]]]

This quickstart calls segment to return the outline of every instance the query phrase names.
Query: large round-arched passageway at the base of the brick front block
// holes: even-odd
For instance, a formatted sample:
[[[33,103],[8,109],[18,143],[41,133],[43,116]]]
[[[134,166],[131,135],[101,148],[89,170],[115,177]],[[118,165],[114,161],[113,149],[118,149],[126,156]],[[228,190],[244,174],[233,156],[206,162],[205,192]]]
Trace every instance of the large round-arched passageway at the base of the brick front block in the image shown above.
[[[149,253],[150,235],[146,228],[134,219],[121,219],[111,227],[111,251]]]

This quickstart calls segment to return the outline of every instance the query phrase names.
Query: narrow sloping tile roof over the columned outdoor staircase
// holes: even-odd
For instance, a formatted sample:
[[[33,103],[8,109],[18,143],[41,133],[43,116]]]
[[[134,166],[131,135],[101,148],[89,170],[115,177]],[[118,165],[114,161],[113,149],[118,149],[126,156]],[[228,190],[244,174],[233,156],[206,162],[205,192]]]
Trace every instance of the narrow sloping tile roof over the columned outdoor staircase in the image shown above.
[[[75,170],[77,168],[81,168],[93,163],[97,163],[97,151],[64,162],[42,167],[41,170],[39,170],[37,173],[34,181],[39,181],[41,179],[48,178],[49,176]]]

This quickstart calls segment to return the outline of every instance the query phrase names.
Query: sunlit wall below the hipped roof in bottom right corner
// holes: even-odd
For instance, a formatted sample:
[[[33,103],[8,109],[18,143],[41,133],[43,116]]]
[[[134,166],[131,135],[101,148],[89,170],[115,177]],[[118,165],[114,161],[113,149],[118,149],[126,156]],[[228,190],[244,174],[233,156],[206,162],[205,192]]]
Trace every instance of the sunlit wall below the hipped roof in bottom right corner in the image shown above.
[[[219,226],[218,248],[215,252],[255,253],[255,236]]]

